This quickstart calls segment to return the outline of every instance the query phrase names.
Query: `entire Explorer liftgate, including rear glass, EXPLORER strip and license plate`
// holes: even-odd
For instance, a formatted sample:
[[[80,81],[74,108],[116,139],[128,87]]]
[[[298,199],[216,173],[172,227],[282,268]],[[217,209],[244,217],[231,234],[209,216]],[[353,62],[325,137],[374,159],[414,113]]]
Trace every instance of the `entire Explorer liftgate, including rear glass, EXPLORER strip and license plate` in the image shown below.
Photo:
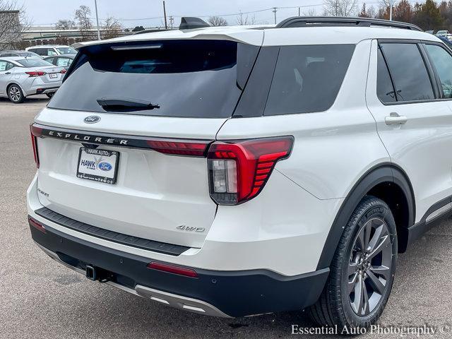
[[[37,138],[42,205],[105,230],[201,247],[216,212],[206,157],[156,149],[207,148],[234,112],[258,47],[171,40],[83,48],[35,119],[47,136]],[[93,181],[91,169],[107,178]]]

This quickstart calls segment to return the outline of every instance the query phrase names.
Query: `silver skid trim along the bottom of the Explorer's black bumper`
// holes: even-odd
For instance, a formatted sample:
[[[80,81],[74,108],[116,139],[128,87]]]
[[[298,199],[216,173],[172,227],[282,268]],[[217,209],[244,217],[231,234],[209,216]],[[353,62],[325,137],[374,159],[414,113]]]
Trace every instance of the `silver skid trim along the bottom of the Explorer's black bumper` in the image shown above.
[[[37,242],[35,242],[37,244]],[[61,265],[66,266],[67,268],[71,268],[71,270],[75,270],[77,273],[81,273],[85,275],[85,271],[81,268],[73,267],[64,261],[61,261],[59,256],[49,249],[46,249],[44,246],[37,244],[37,246],[44,251],[45,254],[50,256],[54,261],[61,263]],[[174,295],[169,292],[163,292],[159,290],[154,290],[150,287],[145,287],[141,285],[136,285],[135,290],[119,285],[117,283],[113,283],[112,281],[107,282],[108,285],[114,286],[123,290],[125,292],[129,292],[132,295],[138,295],[138,297],[143,297],[146,299],[154,300],[155,302],[160,302],[160,304],[165,304],[170,307],[174,307],[176,309],[183,309],[185,311],[194,312],[197,314],[206,314],[208,316],[219,316],[221,318],[231,318],[227,314],[223,313],[215,306],[208,304],[207,302],[203,302],[202,300],[192,299],[189,297],[183,297],[181,295]]]

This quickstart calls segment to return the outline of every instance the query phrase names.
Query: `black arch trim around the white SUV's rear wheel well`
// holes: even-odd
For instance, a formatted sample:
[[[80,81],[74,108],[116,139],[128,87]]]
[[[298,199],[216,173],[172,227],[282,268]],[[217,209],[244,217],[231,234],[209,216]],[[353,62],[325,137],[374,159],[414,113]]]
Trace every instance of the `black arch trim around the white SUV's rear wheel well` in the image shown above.
[[[317,264],[317,270],[327,268],[331,264],[331,260],[338,247],[340,237],[342,237],[344,225],[350,220],[350,216],[358,205],[359,201],[376,185],[383,182],[393,182],[405,194],[408,201],[409,219],[408,225],[415,222],[415,195],[408,175],[398,165],[392,162],[383,162],[365,172],[362,177],[355,183],[347,197],[344,199],[338,213],[335,216],[333,225],[331,226],[323,250]],[[408,232],[408,229],[406,230]]]

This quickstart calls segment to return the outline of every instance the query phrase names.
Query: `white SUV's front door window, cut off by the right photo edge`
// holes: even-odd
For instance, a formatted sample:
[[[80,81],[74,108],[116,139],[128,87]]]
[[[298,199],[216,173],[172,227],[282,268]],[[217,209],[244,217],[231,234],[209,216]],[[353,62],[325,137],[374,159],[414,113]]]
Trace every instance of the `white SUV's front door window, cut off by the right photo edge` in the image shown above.
[[[436,44],[425,44],[425,49],[438,73],[444,97],[452,98],[452,56],[446,49]]]

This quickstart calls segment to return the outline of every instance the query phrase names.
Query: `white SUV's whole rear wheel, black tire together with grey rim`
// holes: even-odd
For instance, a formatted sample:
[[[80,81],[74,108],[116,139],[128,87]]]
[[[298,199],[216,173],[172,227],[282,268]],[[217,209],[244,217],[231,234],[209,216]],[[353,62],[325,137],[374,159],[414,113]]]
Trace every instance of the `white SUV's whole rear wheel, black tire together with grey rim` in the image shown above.
[[[367,244],[364,251],[362,244]],[[320,326],[347,328],[343,334],[369,328],[386,307],[396,263],[397,232],[391,210],[379,198],[365,196],[345,225],[328,281],[309,308],[311,319]]]

